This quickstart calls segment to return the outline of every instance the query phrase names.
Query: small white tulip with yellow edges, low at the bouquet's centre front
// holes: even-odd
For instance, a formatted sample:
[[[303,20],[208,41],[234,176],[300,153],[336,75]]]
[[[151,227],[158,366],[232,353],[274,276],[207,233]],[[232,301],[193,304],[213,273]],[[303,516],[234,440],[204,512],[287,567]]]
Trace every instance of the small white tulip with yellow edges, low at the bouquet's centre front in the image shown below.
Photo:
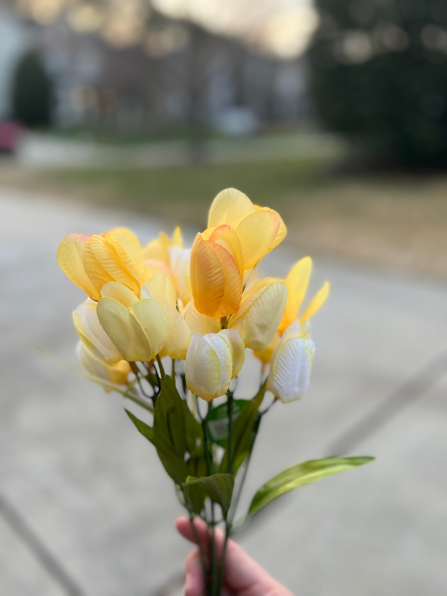
[[[244,343],[236,332],[193,333],[185,359],[188,389],[211,401],[224,395],[243,364]]]

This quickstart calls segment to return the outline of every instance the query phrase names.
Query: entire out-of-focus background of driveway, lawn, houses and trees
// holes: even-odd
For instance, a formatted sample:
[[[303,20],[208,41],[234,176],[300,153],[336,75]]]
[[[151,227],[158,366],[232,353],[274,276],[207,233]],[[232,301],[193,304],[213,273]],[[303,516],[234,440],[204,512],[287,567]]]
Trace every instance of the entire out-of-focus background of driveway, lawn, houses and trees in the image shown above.
[[[0,0],[1,594],[181,593],[151,446],[39,350],[77,367],[61,238],[188,245],[231,186],[287,224],[266,274],[311,254],[332,287],[241,513],[299,460],[377,457],[238,539],[294,594],[445,594],[446,165],[447,0]]]

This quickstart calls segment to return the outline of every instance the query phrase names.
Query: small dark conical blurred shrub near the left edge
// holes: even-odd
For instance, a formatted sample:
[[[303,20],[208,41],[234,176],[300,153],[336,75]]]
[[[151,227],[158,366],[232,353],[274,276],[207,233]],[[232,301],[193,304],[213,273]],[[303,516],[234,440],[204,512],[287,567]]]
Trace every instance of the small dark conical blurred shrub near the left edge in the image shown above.
[[[14,119],[27,126],[51,124],[51,80],[35,52],[26,52],[18,61],[12,105]]]

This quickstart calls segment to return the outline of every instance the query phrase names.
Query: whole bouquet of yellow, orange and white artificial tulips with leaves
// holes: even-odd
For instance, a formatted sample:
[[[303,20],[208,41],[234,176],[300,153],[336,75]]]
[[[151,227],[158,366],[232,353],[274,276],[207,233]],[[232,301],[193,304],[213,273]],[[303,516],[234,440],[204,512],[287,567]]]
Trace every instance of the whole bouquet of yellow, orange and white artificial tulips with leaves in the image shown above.
[[[215,526],[224,524],[226,546],[262,419],[273,403],[301,398],[309,383],[309,319],[329,285],[302,312],[309,257],[285,280],[256,277],[257,263],[286,232],[277,212],[229,188],[214,199],[191,249],[179,228],[145,247],[117,228],[70,234],[57,253],[87,295],[73,313],[85,376],[150,412],[151,424],[127,413],[157,449],[191,523],[199,516],[208,524],[207,548],[199,545],[207,595],[224,584],[225,548],[218,560]],[[246,349],[262,362],[259,388],[235,399]],[[294,465],[261,486],[237,524],[285,492],[370,460]]]

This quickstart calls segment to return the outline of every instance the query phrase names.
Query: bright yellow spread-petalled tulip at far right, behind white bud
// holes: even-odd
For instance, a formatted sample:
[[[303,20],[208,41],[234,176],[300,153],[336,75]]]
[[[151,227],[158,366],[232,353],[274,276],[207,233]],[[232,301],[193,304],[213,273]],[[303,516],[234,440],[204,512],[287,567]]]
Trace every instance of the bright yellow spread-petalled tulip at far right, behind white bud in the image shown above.
[[[324,304],[329,294],[329,283],[326,281],[322,287],[315,294],[311,302],[309,303],[306,311],[299,316],[300,306],[306,296],[308,289],[309,280],[312,272],[312,259],[311,257],[304,257],[299,260],[288,272],[284,282],[287,286],[287,302],[285,303],[285,309],[283,318],[281,319],[278,331],[283,333],[289,325],[298,318],[302,323],[308,321],[312,315],[318,311],[319,308]]]

